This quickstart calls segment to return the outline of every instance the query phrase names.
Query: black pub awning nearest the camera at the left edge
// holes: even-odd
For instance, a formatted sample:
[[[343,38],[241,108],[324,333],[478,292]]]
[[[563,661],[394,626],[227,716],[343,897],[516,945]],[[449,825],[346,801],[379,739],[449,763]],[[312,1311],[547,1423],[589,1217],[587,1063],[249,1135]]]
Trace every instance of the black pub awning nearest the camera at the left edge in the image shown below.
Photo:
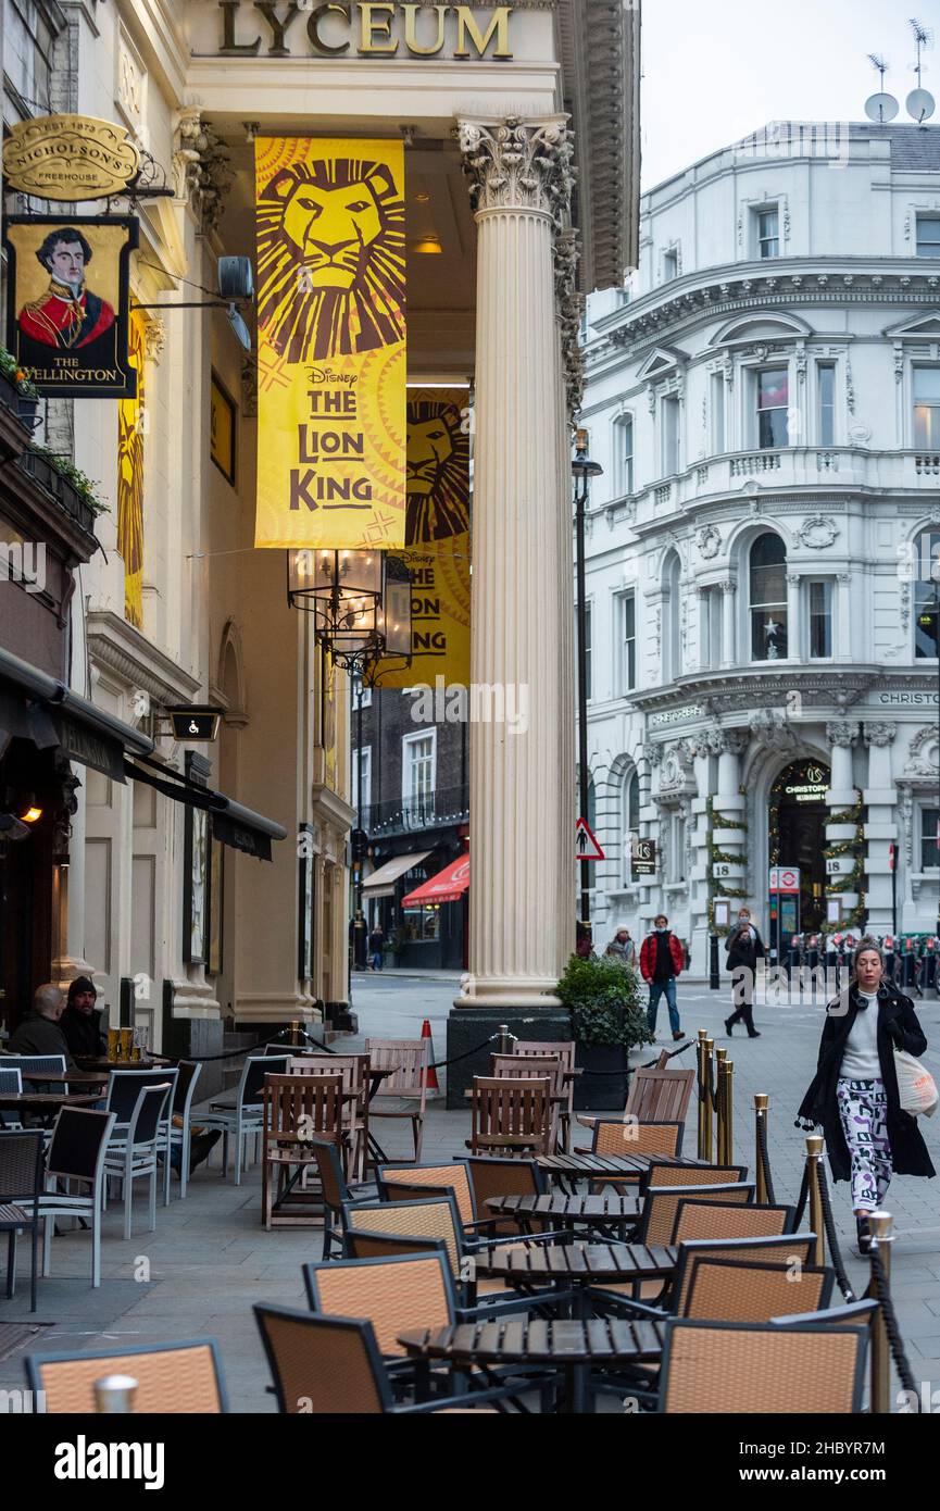
[[[150,756],[147,734],[98,709],[63,681],[0,650],[0,730],[124,781],[124,752]]]

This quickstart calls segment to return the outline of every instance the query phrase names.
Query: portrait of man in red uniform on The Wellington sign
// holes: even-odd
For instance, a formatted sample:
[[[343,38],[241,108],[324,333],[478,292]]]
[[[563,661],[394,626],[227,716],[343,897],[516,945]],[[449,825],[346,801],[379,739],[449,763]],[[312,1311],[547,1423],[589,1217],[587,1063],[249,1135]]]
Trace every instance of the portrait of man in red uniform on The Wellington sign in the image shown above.
[[[24,304],[17,317],[21,337],[59,351],[83,351],[115,323],[115,311],[85,283],[92,249],[76,227],[50,231],[36,257],[50,283],[42,298]]]

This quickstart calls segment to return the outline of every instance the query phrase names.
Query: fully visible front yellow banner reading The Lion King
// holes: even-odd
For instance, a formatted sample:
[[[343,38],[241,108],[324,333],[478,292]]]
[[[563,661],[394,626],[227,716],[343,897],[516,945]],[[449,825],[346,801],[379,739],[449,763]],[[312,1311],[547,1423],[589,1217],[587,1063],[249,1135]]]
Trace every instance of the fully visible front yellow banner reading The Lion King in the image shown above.
[[[255,142],[255,545],[405,545],[402,142]]]

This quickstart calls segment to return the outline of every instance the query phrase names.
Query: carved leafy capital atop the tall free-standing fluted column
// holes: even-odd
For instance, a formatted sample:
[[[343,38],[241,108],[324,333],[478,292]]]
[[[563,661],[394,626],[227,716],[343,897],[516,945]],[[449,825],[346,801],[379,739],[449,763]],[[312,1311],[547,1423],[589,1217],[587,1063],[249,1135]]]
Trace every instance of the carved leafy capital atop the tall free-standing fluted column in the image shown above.
[[[574,186],[567,115],[458,121],[456,130],[475,215],[541,210],[558,231],[564,230]]]

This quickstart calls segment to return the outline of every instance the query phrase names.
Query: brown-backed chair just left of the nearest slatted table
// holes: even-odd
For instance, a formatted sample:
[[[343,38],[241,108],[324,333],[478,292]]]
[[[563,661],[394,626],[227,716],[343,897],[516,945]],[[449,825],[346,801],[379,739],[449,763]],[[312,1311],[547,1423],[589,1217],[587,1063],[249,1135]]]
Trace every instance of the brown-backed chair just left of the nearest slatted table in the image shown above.
[[[313,1416],[419,1416],[431,1411],[470,1411],[476,1399],[499,1399],[508,1389],[473,1396],[394,1405],[388,1375],[372,1322],[325,1318],[287,1307],[254,1307],[264,1343],[278,1410]],[[493,1407],[481,1405],[491,1411]]]

